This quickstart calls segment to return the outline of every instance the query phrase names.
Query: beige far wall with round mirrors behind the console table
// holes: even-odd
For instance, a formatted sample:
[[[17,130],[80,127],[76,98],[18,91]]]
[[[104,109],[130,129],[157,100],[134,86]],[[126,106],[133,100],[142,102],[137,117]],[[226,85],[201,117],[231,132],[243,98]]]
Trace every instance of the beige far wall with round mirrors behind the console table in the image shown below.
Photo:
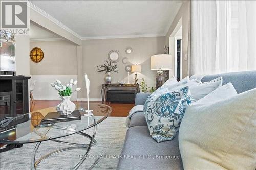
[[[101,98],[101,84],[104,83],[105,74],[97,72],[97,65],[102,65],[105,60],[108,60],[108,53],[111,50],[120,52],[120,60],[117,63],[119,72],[112,72],[112,82],[118,80],[126,80],[127,73],[124,70],[125,64],[122,63],[122,58],[129,58],[129,64],[140,64],[141,73],[138,74],[139,83],[141,78],[145,78],[149,86],[156,86],[155,76],[156,71],[150,70],[150,57],[154,54],[164,52],[165,37],[147,37],[147,38],[120,38],[120,39],[100,39],[100,40],[83,40],[82,41],[82,72],[86,72],[90,79],[90,98]],[[133,48],[133,53],[127,55],[125,49]],[[83,75],[82,75],[83,76]],[[135,74],[130,75],[130,83],[134,82]],[[78,78],[79,79],[79,78]],[[84,87],[84,78],[83,80]],[[86,98],[86,90],[82,91],[82,98]]]

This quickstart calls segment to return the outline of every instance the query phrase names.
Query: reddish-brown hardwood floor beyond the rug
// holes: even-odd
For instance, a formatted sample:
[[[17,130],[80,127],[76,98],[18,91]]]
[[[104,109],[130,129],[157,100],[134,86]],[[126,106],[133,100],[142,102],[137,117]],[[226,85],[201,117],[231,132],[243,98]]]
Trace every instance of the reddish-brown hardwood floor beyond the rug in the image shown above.
[[[34,103],[30,101],[30,111],[36,111],[40,109],[45,109],[48,107],[57,106],[60,101],[47,101],[47,100],[34,100]],[[86,101],[72,101],[74,103],[86,103]],[[92,103],[102,103],[102,102],[92,102]],[[113,117],[126,117],[129,111],[133,108],[134,103],[105,103],[112,107],[112,113],[110,116]]]

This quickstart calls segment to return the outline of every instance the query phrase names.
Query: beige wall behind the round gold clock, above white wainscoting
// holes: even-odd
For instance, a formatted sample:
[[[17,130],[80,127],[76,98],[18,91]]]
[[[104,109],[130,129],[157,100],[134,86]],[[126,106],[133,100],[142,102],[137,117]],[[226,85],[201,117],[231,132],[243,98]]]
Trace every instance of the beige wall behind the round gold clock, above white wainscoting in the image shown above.
[[[30,75],[77,75],[75,44],[68,41],[30,42],[30,50],[34,47],[42,49],[44,59],[39,63],[30,60]]]

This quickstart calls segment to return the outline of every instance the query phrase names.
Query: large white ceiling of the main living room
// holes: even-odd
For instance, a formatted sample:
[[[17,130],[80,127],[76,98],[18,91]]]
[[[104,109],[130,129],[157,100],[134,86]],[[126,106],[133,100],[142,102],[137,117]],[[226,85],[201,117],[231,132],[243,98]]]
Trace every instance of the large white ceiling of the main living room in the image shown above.
[[[81,39],[165,36],[182,1],[31,1]]]

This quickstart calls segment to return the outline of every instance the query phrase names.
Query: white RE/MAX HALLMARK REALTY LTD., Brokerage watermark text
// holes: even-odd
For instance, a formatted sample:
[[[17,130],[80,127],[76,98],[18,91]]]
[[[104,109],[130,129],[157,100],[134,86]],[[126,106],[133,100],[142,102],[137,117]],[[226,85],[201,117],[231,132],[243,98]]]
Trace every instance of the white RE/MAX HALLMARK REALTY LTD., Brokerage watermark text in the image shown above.
[[[84,155],[77,155],[82,159]],[[179,155],[87,155],[87,159],[180,159]]]

